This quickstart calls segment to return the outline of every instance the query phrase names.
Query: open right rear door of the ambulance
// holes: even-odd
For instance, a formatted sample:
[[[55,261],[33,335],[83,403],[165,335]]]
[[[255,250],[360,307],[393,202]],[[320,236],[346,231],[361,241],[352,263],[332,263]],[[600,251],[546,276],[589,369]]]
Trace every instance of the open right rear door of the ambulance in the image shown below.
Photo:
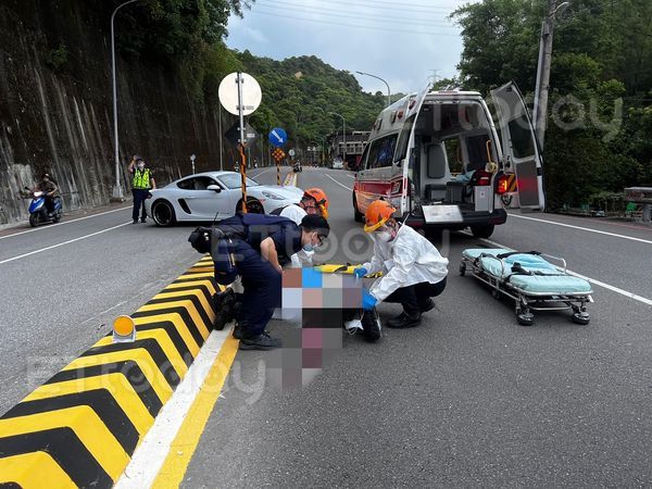
[[[516,175],[518,206],[543,211],[543,162],[523,96],[511,82],[491,90],[491,97],[501,135],[503,171]]]

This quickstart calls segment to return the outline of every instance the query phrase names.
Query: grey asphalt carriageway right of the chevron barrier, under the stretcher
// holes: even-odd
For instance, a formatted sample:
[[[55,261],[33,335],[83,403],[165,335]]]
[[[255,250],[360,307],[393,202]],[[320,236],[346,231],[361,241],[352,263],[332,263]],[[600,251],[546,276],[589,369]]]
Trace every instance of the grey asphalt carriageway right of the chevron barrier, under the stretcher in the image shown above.
[[[346,172],[305,168],[299,185],[326,189],[336,235],[360,226]],[[652,240],[644,228],[535,217]],[[517,217],[492,240],[652,297],[650,243]],[[525,328],[509,302],[456,274],[463,249],[489,244],[442,241],[448,287],[421,327],[387,329],[377,344],[344,337],[304,388],[256,391],[269,353],[239,352],[184,487],[650,485],[650,305],[594,287],[590,325],[550,313]],[[347,259],[342,247],[333,256]],[[290,328],[271,323],[281,337]]]

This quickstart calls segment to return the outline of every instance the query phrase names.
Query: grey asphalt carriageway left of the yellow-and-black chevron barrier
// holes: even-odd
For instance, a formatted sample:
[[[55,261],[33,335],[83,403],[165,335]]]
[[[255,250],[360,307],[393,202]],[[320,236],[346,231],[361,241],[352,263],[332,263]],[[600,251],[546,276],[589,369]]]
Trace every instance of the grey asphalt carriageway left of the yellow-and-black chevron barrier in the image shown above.
[[[187,241],[196,225],[130,222],[126,203],[0,231],[1,413],[200,258]]]

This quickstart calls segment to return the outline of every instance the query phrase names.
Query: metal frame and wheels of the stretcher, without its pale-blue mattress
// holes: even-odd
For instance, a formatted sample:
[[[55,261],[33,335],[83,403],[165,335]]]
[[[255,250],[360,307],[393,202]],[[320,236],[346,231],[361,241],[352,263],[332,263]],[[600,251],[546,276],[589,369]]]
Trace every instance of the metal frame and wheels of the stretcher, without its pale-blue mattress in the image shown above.
[[[551,254],[538,253],[540,256],[552,259],[561,263],[561,267],[555,265],[556,268],[564,275],[569,275],[566,271],[566,260]],[[480,265],[480,258],[494,259],[500,263],[501,276],[487,272]],[[589,324],[590,315],[587,312],[587,303],[592,303],[593,290],[586,292],[572,292],[572,293],[551,293],[551,292],[532,292],[530,290],[523,290],[509,280],[505,280],[505,263],[492,255],[492,254],[480,254],[477,259],[471,259],[462,255],[460,263],[460,275],[464,276],[466,269],[471,268],[473,276],[478,280],[487,284],[491,287],[491,296],[494,299],[500,299],[502,296],[509,297],[514,300],[514,313],[516,314],[516,321],[522,326],[531,326],[535,324],[535,315],[532,311],[573,311],[570,319],[577,324]]]

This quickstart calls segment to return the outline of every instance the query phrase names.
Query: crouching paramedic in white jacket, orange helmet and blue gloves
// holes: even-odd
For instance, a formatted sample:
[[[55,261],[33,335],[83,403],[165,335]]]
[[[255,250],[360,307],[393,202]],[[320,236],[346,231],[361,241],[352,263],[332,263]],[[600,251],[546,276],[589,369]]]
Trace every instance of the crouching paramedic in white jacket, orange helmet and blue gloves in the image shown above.
[[[448,259],[412,229],[400,225],[388,202],[376,200],[365,213],[364,230],[374,240],[374,255],[354,271],[356,277],[383,272],[367,291],[363,289],[362,306],[372,310],[378,302],[397,302],[403,312],[387,322],[391,328],[409,328],[421,323],[422,314],[435,308],[432,297],[446,288]]]

